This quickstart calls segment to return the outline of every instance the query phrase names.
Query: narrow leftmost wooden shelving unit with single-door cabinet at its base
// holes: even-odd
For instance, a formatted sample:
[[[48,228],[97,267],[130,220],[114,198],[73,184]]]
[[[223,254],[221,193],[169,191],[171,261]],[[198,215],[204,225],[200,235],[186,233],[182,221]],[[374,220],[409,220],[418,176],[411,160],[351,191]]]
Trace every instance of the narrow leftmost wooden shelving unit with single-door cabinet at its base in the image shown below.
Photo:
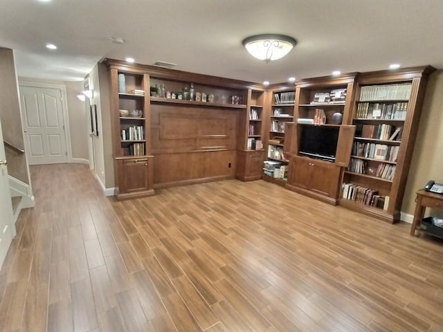
[[[123,80],[124,84],[122,84]],[[109,64],[111,123],[116,197],[129,199],[154,194],[150,147],[149,75]],[[138,91],[134,93],[132,91]],[[127,111],[121,116],[120,110]],[[132,112],[139,111],[140,114]]]

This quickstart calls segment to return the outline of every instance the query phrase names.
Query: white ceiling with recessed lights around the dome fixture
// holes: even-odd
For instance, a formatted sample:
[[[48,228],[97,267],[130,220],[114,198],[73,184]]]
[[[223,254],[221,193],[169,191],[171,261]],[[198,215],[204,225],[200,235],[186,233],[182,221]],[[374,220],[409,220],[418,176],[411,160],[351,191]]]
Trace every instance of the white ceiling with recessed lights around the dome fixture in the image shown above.
[[[266,64],[242,46],[260,33],[298,44]],[[443,68],[443,1],[0,0],[0,46],[15,50],[19,76],[66,81],[103,57],[271,84],[392,63]]]

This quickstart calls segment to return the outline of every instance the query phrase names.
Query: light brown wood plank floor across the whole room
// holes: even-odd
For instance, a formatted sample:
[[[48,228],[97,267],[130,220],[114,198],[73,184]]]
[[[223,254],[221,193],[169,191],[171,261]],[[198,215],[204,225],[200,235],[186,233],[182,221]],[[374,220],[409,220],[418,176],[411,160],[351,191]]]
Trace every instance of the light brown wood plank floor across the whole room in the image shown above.
[[[254,181],[114,201],[31,167],[0,331],[442,331],[442,241]]]

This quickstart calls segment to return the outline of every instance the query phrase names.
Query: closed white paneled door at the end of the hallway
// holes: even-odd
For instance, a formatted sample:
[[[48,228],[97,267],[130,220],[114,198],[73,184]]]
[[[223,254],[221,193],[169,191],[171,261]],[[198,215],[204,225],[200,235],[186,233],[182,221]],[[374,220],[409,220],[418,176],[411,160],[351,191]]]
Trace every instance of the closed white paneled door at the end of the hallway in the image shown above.
[[[67,163],[62,91],[21,86],[20,99],[29,165]]]

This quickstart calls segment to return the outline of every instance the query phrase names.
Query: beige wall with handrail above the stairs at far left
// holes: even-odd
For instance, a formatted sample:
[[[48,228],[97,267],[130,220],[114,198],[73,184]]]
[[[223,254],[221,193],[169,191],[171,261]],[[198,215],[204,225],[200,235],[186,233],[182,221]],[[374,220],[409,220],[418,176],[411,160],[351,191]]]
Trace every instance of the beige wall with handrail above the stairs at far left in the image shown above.
[[[0,119],[3,139],[24,149],[14,54],[8,48],[0,48]],[[8,147],[5,147],[5,152],[8,174],[30,185],[26,155],[17,154]]]

